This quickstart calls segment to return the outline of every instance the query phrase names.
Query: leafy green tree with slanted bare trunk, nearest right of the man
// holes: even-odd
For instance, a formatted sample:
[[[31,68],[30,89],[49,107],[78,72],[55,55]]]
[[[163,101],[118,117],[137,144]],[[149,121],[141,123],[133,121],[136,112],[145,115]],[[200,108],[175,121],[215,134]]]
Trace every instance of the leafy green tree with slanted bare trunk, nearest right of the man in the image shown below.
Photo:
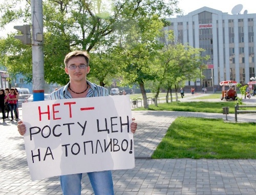
[[[137,83],[143,97],[144,108],[148,109],[145,82],[156,79],[157,66],[154,63],[162,44],[157,40],[163,23],[157,15],[144,18],[130,27],[130,32],[122,42],[122,56],[126,63],[123,78]]]

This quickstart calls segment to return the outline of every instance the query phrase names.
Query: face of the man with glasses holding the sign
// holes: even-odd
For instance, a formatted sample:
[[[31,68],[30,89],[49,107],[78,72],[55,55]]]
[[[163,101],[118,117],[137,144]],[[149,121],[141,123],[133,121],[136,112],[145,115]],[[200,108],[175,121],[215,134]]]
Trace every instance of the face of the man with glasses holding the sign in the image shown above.
[[[68,62],[68,67],[65,67],[65,72],[69,75],[70,80],[73,81],[82,81],[86,80],[87,74],[90,72],[90,67],[86,67],[85,69],[80,69],[78,66],[85,64],[87,65],[86,59],[84,57],[78,56],[73,57]],[[77,66],[76,69],[72,70],[70,66]]]

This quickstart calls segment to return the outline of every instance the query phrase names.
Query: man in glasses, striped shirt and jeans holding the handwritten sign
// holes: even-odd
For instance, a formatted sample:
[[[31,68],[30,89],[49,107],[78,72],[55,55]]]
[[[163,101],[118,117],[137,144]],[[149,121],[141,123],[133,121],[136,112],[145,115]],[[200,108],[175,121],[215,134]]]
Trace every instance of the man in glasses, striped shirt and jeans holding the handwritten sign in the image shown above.
[[[87,80],[87,74],[90,72],[89,54],[87,52],[70,52],[66,55],[64,63],[65,72],[69,75],[70,82],[62,88],[52,92],[49,99],[87,98],[109,95],[107,89]],[[136,129],[137,123],[132,122],[131,132],[135,133]],[[26,132],[26,127],[22,121],[18,122],[18,132],[20,135],[24,135]],[[114,194],[111,170],[88,172],[87,174],[95,195]],[[81,178],[82,174],[60,176],[60,185],[63,194],[80,195]]]

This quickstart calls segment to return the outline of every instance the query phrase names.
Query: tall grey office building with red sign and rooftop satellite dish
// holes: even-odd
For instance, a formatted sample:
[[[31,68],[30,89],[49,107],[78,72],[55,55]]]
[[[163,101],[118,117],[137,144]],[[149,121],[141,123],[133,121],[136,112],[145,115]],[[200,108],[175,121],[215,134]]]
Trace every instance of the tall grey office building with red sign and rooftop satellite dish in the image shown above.
[[[174,30],[177,42],[203,48],[202,55],[210,56],[204,62],[208,64],[208,69],[203,71],[204,78],[187,81],[186,85],[218,88],[224,80],[246,84],[255,77],[256,14],[249,14],[247,10],[240,13],[241,6],[235,6],[232,14],[203,7],[168,19],[171,26],[167,29]]]

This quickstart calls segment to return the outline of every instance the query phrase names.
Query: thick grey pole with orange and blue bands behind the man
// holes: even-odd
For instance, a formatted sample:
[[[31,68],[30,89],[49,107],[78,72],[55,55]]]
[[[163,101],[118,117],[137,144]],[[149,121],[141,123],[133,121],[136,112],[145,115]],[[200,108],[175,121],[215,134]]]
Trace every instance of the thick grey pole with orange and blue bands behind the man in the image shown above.
[[[44,100],[45,73],[43,53],[43,23],[42,23],[42,0],[31,0],[32,21],[32,76],[33,76],[33,99]]]

